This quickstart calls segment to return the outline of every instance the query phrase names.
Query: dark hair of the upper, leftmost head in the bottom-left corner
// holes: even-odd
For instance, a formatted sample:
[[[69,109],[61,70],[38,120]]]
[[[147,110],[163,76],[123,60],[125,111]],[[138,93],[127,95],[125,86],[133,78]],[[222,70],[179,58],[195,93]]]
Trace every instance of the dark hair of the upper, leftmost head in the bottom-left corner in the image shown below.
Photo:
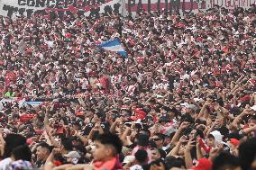
[[[26,144],[26,139],[19,134],[7,134],[5,137],[5,152],[3,158],[11,157],[14,148]]]

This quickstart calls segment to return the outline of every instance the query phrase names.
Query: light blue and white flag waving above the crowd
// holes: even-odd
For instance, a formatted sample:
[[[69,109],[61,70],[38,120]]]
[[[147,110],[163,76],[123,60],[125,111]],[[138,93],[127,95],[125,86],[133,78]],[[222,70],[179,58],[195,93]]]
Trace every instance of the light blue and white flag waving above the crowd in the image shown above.
[[[117,54],[123,56],[124,58],[128,57],[126,51],[123,49],[123,45],[117,39],[103,41],[101,44],[98,45],[98,47],[105,50],[114,51]]]

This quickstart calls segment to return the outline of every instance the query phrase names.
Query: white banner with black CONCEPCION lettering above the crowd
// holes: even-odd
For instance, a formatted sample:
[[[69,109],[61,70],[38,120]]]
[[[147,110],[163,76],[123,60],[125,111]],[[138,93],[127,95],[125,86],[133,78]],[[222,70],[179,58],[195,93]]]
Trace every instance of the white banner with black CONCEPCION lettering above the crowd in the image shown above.
[[[99,13],[121,13],[121,5],[121,0],[0,0],[0,15],[11,18],[20,14],[59,18],[76,13],[95,16]]]

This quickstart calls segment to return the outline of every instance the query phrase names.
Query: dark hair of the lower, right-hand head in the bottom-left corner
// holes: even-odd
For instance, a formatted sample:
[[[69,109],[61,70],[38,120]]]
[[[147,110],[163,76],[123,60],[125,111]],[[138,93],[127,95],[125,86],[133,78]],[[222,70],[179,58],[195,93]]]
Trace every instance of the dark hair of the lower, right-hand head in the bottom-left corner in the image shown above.
[[[15,160],[32,161],[32,151],[27,145],[21,145],[14,148],[12,154],[14,155]]]

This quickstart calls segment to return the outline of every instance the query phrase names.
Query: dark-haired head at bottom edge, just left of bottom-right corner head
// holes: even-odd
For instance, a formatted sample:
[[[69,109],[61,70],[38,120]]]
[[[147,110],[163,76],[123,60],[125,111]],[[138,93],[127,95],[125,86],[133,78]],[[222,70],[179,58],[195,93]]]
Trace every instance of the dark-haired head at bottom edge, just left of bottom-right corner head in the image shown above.
[[[213,162],[213,170],[227,167],[229,167],[229,169],[234,169],[237,166],[240,166],[239,159],[228,152],[221,153],[219,156],[215,157]]]

